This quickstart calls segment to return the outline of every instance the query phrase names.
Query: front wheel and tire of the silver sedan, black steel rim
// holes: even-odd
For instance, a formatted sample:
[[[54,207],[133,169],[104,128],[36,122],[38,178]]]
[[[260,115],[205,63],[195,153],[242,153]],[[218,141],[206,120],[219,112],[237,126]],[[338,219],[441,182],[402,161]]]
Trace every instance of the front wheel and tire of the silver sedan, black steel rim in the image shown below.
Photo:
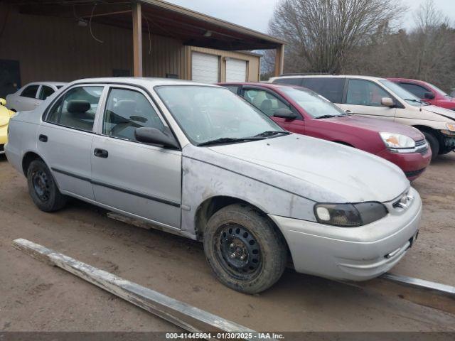
[[[218,280],[242,293],[266,290],[279,280],[287,264],[282,234],[248,205],[229,205],[210,217],[204,251]]]

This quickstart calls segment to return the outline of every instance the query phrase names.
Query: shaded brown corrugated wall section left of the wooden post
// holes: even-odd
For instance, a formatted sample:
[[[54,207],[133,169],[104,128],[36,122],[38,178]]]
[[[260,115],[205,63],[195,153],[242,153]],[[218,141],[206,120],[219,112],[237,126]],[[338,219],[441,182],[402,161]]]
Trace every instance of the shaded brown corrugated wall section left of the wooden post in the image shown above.
[[[132,34],[109,26],[88,27],[77,21],[46,16],[23,16],[12,10],[0,37],[0,59],[18,60],[22,83],[70,81],[112,76],[113,69],[132,67]]]

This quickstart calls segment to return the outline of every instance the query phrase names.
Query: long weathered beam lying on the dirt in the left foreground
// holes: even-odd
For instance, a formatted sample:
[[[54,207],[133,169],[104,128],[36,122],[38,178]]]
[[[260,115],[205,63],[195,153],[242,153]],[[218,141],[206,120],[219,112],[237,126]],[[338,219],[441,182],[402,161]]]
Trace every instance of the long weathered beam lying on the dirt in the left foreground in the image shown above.
[[[123,298],[129,303],[149,311],[149,313],[158,315],[160,318],[164,318],[164,320],[168,320],[189,332],[212,332],[210,339],[215,340],[217,337],[213,332],[241,332],[245,335],[251,335],[250,340],[264,340],[262,335],[243,325],[238,325],[157,291],[139,286],[137,283],[127,281],[27,239],[16,239],[13,246],[49,265],[58,266],[70,274]],[[245,340],[248,340],[248,336]]]

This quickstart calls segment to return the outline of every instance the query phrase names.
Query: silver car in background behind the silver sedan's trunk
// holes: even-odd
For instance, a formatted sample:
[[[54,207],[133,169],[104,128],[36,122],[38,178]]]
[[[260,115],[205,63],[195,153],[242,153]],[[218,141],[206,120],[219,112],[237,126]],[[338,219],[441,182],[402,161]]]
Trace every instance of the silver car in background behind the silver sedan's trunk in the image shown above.
[[[22,112],[33,110],[51,94],[65,86],[64,82],[33,82],[21,87],[21,89],[8,94],[6,103],[10,110]]]

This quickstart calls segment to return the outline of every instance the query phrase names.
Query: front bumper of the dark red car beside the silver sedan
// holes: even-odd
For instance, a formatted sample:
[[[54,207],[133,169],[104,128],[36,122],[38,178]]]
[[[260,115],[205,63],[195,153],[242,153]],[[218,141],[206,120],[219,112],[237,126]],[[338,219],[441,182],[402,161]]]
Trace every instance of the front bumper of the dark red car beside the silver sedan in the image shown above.
[[[428,150],[422,153],[393,153],[388,149],[385,149],[377,154],[381,158],[385,158],[387,161],[395,163],[398,167],[405,172],[406,177],[412,181],[419,178],[425,169],[432,161],[432,150]]]

